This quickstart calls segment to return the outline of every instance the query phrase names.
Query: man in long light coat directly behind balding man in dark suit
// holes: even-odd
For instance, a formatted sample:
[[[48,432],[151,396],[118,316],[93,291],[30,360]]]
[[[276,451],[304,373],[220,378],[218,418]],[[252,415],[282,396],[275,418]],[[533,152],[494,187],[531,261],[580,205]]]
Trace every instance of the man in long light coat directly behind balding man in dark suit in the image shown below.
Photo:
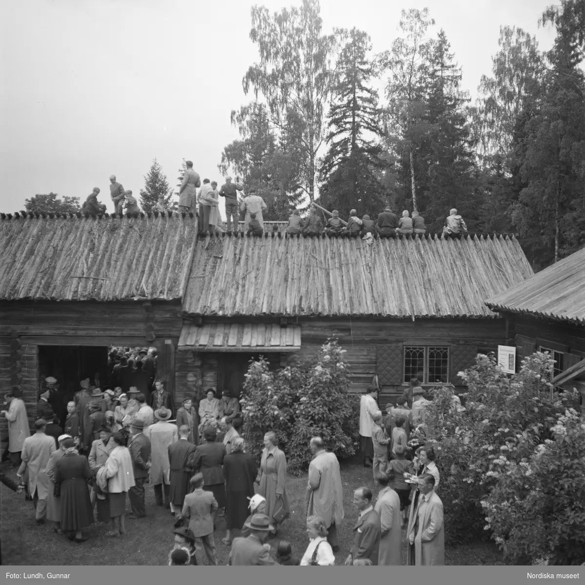
[[[402,565],[402,512],[400,497],[388,487],[386,473],[376,477],[380,492],[374,510],[380,515],[381,535],[378,565]]]

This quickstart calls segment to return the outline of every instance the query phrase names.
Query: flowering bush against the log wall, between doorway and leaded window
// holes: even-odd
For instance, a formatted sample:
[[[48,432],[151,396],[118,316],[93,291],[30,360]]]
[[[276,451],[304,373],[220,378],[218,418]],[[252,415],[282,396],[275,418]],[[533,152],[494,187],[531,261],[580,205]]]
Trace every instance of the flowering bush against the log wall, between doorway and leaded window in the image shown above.
[[[250,452],[259,455],[263,437],[274,431],[288,469],[307,469],[309,441],[321,436],[338,457],[356,451],[359,398],[349,391],[349,371],[335,341],[321,347],[309,367],[269,371],[266,360],[250,363],[240,402]]]

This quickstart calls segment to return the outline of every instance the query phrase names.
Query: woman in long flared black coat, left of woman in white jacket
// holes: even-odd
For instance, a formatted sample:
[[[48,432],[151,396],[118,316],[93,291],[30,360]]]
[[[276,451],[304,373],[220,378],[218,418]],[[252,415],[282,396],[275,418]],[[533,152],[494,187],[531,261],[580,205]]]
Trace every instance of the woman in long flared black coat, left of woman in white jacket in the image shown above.
[[[55,463],[54,495],[61,498],[61,530],[69,532],[75,542],[87,541],[81,531],[94,523],[88,481],[91,480],[90,464],[77,454],[73,439],[63,441],[65,453]]]

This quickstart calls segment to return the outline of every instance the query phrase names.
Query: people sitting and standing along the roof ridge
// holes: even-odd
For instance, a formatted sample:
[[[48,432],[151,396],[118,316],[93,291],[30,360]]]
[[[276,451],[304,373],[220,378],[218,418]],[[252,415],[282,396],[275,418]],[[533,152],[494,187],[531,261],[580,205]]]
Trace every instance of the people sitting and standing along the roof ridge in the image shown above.
[[[235,231],[239,229],[239,213],[241,211],[244,214],[244,231],[249,235],[263,235],[263,212],[266,211],[267,206],[255,188],[246,188],[237,182],[232,183],[232,177],[228,176],[222,187],[218,189],[217,181],[209,181],[208,178],[204,178],[203,183],[201,183],[201,177],[193,170],[192,161],[185,161],[185,166],[183,181],[178,192],[178,209],[185,213],[197,213],[199,235],[206,236],[208,233],[223,232],[223,220],[219,213],[220,197],[225,198],[226,229],[228,232],[232,232],[232,221],[233,229]],[[245,192],[240,204],[238,203],[238,192]],[[99,188],[95,187],[83,204],[83,212],[94,215],[105,212],[106,206],[98,203],[98,195]],[[133,214],[139,211],[132,191],[125,191],[122,185],[116,181],[115,175],[110,177],[110,197],[116,214],[122,214],[124,211]],[[367,214],[360,219],[356,209],[350,210],[347,221],[339,217],[337,209],[331,212],[331,218],[325,220],[324,214],[319,209],[321,208],[314,204],[311,205],[305,219],[301,218],[300,211],[295,209],[288,218],[285,232],[291,235],[304,234],[308,236],[318,236],[322,233],[334,236],[347,234],[360,236],[364,239],[373,238],[374,235],[386,238],[397,234],[426,233],[425,219],[416,209],[412,211],[412,214],[405,210],[398,218],[390,207],[386,207],[378,215],[377,221],[371,219]],[[164,196],[161,195],[157,204],[148,211],[166,211]],[[467,226],[462,216],[457,214],[457,209],[451,209],[445,220],[443,235],[457,236],[464,233],[467,233]]]

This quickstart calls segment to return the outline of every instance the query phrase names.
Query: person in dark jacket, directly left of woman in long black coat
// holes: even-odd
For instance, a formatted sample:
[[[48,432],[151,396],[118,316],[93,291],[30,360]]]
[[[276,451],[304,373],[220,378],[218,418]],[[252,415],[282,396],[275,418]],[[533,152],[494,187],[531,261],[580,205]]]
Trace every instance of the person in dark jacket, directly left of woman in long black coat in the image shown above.
[[[219,510],[225,508],[225,479],[223,477],[223,458],[228,454],[223,443],[216,443],[216,431],[212,426],[203,431],[205,442],[198,445],[191,453],[188,467],[194,472],[201,472],[204,490],[211,491],[217,500]],[[215,524],[214,513],[214,524]]]

